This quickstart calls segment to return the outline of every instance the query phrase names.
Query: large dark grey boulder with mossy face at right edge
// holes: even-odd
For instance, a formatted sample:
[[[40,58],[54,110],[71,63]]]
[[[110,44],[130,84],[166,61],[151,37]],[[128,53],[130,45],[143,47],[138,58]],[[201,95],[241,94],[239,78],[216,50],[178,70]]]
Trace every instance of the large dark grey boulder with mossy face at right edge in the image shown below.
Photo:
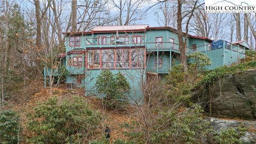
[[[226,75],[209,87],[213,116],[256,119],[256,69]]]

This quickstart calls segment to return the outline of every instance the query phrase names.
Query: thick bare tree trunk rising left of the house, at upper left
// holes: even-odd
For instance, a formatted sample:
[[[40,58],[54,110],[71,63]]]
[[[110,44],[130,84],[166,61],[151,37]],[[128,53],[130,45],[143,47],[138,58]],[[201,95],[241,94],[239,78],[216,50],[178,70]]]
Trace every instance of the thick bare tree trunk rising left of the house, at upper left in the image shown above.
[[[40,18],[40,2],[34,0],[36,9],[36,46],[41,47],[41,18]]]

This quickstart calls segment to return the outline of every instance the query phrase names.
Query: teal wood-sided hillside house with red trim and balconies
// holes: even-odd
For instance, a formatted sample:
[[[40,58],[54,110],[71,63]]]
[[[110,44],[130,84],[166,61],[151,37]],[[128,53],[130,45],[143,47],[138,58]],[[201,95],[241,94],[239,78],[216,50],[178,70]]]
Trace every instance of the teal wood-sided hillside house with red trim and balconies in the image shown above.
[[[149,75],[164,75],[180,63],[176,29],[171,27],[101,26],[87,32],[65,33],[66,53],[59,57],[66,67],[66,86],[84,87],[88,95],[97,93],[94,84],[102,70],[120,71],[131,85],[132,98],[142,100],[141,84]],[[189,35],[186,53],[200,51],[207,54],[214,69],[239,62],[245,57],[244,42],[213,41]],[[54,73],[52,72],[54,71]],[[45,86],[50,73],[58,69],[44,69]],[[56,75],[55,75],[56,74]]]

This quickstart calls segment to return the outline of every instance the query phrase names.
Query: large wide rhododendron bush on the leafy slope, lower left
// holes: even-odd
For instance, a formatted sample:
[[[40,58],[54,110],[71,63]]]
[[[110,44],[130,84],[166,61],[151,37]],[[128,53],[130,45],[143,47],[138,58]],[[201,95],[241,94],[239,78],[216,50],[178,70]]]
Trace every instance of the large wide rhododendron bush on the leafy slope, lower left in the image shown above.
[[[100,126],[99,113],[80,97],[52,97],[38,103],[28,117],[28,129],[34,133],[30,143],[83,143]]]

